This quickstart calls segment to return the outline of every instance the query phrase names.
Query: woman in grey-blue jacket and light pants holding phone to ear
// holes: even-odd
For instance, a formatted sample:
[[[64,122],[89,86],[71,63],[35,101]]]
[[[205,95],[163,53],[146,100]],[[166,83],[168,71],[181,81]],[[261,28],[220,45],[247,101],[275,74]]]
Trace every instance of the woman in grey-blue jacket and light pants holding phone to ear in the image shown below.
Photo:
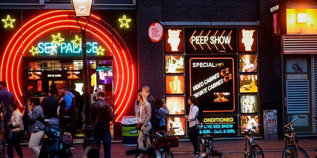
[[[30,97],[27,101],[29,132],[31,133],[29,140],[29,149],[34,158],[39,158],[39,143],[44,137],[44,114],[41,108],[41,99],[38,97]]]

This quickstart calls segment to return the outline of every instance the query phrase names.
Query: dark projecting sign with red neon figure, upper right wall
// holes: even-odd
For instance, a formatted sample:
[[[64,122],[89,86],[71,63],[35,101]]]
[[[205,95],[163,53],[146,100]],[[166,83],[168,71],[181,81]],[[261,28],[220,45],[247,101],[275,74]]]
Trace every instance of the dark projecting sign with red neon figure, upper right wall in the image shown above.
[[[287,33],[286,0],[278,0],[269,5],[269,31],[271,36]]]

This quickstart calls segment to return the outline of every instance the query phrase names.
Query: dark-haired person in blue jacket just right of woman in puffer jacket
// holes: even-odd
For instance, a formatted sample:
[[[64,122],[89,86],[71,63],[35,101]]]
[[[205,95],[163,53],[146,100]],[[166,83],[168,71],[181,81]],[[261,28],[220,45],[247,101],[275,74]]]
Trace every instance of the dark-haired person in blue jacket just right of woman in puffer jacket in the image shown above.
[[[169,110],[167,109],[164,100],[161,97],[157,97],[154,100],[155,107],[155,125],[154,131],[166,131],[166,123],[165,123],[165,115],[169,114]]]

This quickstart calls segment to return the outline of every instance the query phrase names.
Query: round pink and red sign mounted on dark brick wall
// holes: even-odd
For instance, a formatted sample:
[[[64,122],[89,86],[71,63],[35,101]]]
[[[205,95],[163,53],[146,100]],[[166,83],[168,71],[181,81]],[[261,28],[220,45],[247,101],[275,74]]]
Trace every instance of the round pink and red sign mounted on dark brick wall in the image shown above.
[[[157,43],[163,38],[163,26],[159,22],[153,22],[149,27],[149,38],[152,42]]]

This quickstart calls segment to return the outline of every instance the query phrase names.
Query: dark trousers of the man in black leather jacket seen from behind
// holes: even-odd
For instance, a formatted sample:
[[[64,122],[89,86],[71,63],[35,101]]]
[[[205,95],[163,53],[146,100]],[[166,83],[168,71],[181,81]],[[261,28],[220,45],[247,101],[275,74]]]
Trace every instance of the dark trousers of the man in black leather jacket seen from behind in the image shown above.
[[[105,158],[111,158],[111,133],[109,130],[102,129],[102,128],[95,128],[93,131],[93,136],[95,138],[96,144],[98,146],[98,152],[96,152],[96,157],[100,157],[100,143],[103,141],[104,145],[104,153]]]

